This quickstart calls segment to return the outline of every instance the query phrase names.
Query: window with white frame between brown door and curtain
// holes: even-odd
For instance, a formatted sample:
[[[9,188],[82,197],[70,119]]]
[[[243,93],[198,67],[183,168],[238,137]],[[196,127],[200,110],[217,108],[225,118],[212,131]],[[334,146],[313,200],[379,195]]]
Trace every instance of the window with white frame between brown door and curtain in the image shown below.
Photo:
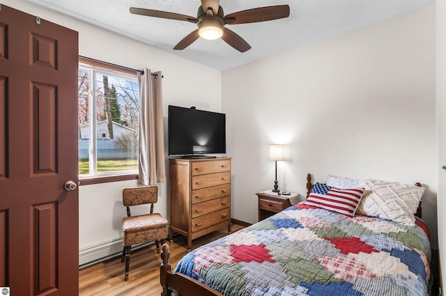
[[[79,59],[80,178],[137,173],[137,76],[114,68]]]

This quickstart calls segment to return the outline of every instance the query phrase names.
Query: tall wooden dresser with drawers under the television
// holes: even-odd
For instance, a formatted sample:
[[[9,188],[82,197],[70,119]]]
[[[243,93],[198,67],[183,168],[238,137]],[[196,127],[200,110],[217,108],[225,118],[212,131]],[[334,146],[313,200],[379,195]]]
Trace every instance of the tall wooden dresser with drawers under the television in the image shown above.
[[[231,233],[231,158],[169,159],[169,238],[192,240],[227,227]]]

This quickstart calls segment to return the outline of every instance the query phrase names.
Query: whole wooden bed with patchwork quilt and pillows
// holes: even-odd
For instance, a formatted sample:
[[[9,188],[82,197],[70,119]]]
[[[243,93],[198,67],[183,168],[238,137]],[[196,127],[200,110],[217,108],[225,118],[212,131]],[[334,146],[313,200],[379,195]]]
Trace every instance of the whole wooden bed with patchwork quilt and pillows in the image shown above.
[[[429,295],[429,232],[414,215],[424,189],[355,181],[308,174],[305,202],[195,249],[174,272],[164,244],[162,295]]]

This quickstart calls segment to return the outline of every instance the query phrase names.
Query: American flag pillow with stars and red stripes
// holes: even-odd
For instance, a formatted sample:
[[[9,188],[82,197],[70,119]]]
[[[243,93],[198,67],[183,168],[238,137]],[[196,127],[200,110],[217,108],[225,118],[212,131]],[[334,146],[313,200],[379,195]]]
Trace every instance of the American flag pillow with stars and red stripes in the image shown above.
[[[353,217],[364,191],[364,188],[337,189],[316,183],[305,204]]]

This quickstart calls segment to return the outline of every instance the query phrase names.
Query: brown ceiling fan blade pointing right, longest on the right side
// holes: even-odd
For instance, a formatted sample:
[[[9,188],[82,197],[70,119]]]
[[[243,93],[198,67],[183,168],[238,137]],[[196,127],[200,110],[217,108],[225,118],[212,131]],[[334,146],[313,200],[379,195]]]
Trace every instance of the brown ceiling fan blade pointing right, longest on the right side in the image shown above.
[[[248,24],[251,22],[265,22],[289,17],[290,7],[288,5],[265,6],[230,13],[224,17],[226,24]]]

